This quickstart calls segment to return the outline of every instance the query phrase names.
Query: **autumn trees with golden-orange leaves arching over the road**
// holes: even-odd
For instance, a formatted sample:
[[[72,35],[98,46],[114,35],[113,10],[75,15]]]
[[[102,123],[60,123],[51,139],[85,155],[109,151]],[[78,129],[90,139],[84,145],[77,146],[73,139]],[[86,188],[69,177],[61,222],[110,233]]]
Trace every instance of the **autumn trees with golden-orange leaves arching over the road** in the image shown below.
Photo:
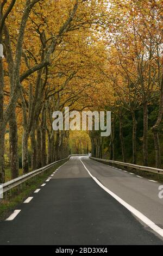
[[[70,154],[163,167],[163,1],[0,0],[0,183]],[[54,111],[111,111],[111,136]]]

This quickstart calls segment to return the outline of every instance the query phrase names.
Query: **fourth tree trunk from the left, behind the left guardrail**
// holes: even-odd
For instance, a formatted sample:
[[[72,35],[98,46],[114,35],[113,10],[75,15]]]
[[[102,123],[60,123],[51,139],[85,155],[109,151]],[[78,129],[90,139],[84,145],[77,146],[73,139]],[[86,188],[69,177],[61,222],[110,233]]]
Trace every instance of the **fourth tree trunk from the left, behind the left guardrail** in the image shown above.
[[[32,127],[32,130],[30,132],[30,143],[31,143],[31,150],[32,150],[32,158],[31,158],[31,166],[32,170],[37,169],[37,144],[36,144],[36,137],[35,137],[35,128]]]

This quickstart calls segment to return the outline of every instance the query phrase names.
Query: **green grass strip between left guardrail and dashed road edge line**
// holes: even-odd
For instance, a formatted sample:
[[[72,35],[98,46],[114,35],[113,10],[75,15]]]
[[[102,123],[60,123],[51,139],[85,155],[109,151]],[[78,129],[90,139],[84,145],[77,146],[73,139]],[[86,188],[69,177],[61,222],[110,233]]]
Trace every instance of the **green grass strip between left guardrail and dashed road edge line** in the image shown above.
[[[39,174],[26,182],[23,182],[22,186],[12,188],[11,193],[8,192],[4,197],[6,198],[0,200],[0,221],[5,220],[17,207],[21,204],[24,199],[31,196],[36,188],[48,178],[50,174],[54,172],[59,166],[64,164],[66,161],[55,164],[55,166],[49,168],[42,174]]]

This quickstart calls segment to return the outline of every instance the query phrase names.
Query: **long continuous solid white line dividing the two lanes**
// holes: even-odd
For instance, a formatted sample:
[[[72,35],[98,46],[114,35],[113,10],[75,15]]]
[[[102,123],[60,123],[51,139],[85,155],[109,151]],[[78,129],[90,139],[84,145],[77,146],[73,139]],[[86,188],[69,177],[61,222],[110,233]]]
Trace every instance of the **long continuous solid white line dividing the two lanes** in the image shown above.
[[[80,161],[83,163],[80,157]],[[83,163],[84,168],[87,170],[89,175],[92,177],[93,180],[101,187],[103,190],[105,190],[110,196],[115,198],[120,204],[122,204],[125,208],[127,208],[132,214],[134,214],[137,218],[139,218],[143,223],[148,225],[149,228],[153,229],[156,233],[158,233],[160,236],[163,237],[163,229],[161,229],[158,225],[156,225],[153,221],[149,220],[145,215],[143,215],[140,211],[136,210],[133,206],[126,203],[123,199],[118,197],[115,193],[110,191],[108,188],[106,188],[99,180],[94,177],[90,171],[86,168],[85,164]]]

